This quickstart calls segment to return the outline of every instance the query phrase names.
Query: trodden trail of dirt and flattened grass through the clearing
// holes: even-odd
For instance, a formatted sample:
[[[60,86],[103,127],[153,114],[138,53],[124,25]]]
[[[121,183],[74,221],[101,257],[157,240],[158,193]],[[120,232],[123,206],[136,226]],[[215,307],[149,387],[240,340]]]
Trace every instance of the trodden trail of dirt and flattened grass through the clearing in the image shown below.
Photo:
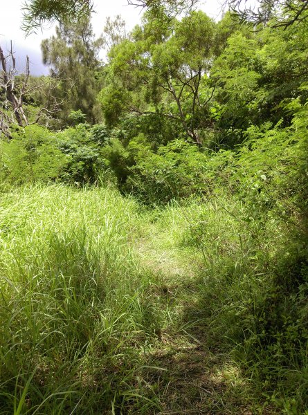
[[[159,385],[160,415],[253,414],[242,401],[241,377],[223,356],[208,347],[198,284],[202,255],[170,241],[171,230],[149,228],[137,243],[142,263],[161,275],[159,297],[169,316],[150,353],[150,365],[167,371],[148,379]]]

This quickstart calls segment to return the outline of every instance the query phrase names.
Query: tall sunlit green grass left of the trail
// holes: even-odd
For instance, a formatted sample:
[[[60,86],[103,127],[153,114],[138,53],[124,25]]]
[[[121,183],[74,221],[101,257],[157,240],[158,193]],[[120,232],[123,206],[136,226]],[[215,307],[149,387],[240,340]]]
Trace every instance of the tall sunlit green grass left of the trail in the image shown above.
[[[1,414],[157,407],[141,394],[159,313],[131,248],[137,211],[113,190],[1,195]]]

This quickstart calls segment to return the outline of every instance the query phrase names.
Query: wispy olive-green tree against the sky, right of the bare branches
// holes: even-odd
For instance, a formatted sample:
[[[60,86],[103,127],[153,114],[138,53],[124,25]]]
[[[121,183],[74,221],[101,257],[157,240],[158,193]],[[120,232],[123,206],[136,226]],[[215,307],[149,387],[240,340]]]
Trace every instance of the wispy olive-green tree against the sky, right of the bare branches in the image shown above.
[[[89,18],[78,24],[60,24],[56,35],[42,42],[44,64],[50,66],[51,77],[60,80],[57,95],[64,101],[64,122],[72,110],[82,111],[89,122],[98,121],[96,95],[100,89],[101,47],[102,38],[94,38]]]

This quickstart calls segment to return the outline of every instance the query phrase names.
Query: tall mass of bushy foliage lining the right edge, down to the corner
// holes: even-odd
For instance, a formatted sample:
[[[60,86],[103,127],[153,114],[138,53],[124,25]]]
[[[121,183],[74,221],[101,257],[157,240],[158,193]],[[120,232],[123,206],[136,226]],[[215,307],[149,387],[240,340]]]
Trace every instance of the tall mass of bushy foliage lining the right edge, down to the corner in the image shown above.
[[[307,104],[287,107],[291,127],[248,129],[216,173],[206,207],[190,216],[182,243],[201,246],[206,259],[199,307],[212,344],[233,349],[268,402],[301,414],[308,382]]]

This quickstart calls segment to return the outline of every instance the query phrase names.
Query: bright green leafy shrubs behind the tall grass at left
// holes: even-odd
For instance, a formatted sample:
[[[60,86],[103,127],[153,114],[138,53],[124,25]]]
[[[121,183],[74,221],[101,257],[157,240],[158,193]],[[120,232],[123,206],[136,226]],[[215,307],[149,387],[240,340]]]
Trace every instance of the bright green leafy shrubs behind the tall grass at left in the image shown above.
[[[57,133],[38,125],[19,129],[11,140],[0,142],[0,180],[11,185],[55,180],[94,183],[107,169],[102,149],[110,135],[100,124],[77,124]]]

